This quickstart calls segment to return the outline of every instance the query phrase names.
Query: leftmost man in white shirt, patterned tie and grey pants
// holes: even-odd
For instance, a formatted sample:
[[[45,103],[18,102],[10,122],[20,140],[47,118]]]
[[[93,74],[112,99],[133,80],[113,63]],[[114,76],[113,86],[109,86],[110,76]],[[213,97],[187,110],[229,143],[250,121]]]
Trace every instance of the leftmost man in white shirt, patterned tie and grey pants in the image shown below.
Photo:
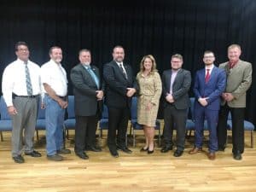
[[[22,135],[24,129],[25,154],[41,157],[33,149],[38,100],[40,98],[40,67],[29,60],[29,49],[25,42],[15,44],[17,60],[3,72],[2,90],[9,115],[12,117],[12,157],[16,163],[24,163]]]

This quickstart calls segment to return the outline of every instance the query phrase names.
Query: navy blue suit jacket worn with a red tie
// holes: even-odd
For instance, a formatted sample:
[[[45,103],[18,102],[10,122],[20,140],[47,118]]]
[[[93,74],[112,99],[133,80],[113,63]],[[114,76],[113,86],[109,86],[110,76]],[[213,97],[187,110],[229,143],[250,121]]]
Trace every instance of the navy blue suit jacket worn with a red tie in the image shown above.
[[[208,97],[208,104],[206,108],[218,110],[220,107],[220,96],[224,92],[226,86],[226,75],[223,69],[214,66],[212,68],[210,79],[207,83],[205,82],[205,77],[205,68],[198,70],[195,74],[195,105],[201,105],[197,101],[200,97]]]

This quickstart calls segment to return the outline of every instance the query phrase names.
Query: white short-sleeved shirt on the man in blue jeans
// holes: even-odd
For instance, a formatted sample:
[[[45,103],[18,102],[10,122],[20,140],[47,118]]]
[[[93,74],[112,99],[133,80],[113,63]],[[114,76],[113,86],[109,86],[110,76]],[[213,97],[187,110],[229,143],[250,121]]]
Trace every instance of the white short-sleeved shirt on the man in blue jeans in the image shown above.
[[[49,84],[57,96],[67,96],[67,73],[61,64],[53,60],[46,62],[41,67],[41,82],[42,85]],[[47,93],[46,90],[42,90]]]

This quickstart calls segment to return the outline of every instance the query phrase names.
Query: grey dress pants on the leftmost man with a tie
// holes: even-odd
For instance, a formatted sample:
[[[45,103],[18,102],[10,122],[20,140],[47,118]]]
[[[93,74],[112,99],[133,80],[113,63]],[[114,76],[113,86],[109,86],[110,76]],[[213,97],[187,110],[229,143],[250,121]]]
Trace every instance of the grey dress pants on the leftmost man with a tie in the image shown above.
[[[18,156],[22,152],[23,129],[25,152],[33,151],[33,137],[38,116],[38,99],[39,96],[33,98],[15,96],[13,103],[17,109],[17,114],[12,115],[12,156]]]

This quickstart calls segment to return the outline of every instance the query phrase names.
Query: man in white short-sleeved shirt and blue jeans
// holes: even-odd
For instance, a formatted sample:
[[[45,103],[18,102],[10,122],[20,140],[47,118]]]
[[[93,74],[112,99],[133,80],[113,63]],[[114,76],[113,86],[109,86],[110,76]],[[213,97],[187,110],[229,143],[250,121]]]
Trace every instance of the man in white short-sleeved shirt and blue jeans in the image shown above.
[[[44,85],[44,105],[46,121],[46,152],[48,160],[60,161],[60,154],[70,154],[64,148],[63,123],[67,108],[67,73],[61,67],[60,47],[49,49],[50,60],[41,67],[41,81]]]

